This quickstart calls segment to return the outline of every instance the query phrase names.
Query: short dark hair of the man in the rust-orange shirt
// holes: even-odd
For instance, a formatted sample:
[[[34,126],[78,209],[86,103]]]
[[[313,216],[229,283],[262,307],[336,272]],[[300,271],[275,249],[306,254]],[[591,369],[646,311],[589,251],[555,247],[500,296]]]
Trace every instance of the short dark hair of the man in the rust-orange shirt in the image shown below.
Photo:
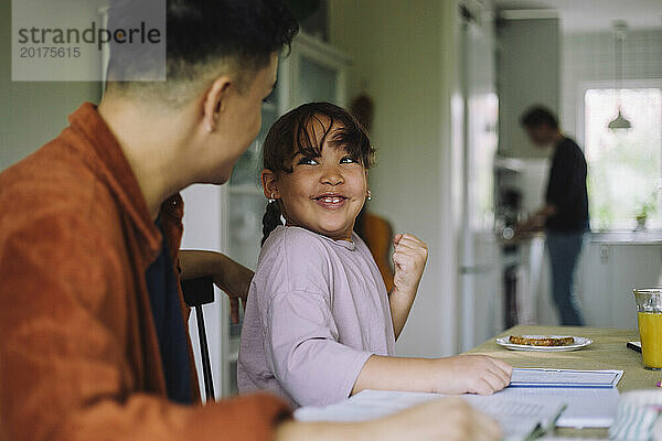
[[[115,0],[108,24],[121,28],[131,14],[145,13],[148,3]],[[111,46],[108,78],[119,90],[151,90],[181,104],[199,92],[197,86],[222,74],[234,74],[243,88],[269,64],[273,53],[289,49],[299,30],[281,0],[166,0],[166,22],[167,80],[114,82],[131,69],[149,68],[149,61],[122,55]]]

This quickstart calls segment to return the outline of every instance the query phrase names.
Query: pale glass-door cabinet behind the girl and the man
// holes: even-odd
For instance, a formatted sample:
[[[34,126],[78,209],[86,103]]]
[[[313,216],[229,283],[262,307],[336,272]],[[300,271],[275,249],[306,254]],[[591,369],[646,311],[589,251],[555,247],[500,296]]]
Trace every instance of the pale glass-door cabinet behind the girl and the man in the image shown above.
[[[185,202],[182,248],[218,250],[255,269],[260,250],[261,218],[267,200],[261,192],[261,147],[271,125],[288,110],[308,101],[345,104],[349,58],[340,51],[303,33],[292,41],[289,56],[281,57],[278,82],[261,109],[257,139],[235,164],[226,185],[193,185]],[[236,369],[242,322],[233,324],[226,295],[204,306],[216,397],[237,392]],[[243,311],[241,314],[243,320]],[[195,318],[190,322],[199,372]]]

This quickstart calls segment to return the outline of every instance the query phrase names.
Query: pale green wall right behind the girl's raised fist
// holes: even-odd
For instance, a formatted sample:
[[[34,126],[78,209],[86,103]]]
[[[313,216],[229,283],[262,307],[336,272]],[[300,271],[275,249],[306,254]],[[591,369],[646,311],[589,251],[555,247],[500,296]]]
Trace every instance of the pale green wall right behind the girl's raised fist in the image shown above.
[[[456,1],[331,0],[330,41],[350,54],[349,99],[375,103],[370,209],[429,247],[426,272],[398,341],[402,355],[455,353],[458,143]],[[461,115],[461,110],[460,110]],[[456,140],[457,141],[457,140]],[[455,207],[455,209],[453,209]]]

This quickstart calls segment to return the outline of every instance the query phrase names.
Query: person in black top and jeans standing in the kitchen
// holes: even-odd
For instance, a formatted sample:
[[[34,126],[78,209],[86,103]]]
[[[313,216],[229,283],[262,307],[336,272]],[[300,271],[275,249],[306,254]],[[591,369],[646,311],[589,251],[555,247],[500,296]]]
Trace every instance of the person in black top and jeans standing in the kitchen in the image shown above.
[[[522,115],[521,123],[536,147],[553,149],[553,157],[545,205],[520,225],[517,235],[544,228],[560,324],[583,326],[574,281],[584,235],[589,230],[586,158],[579,146],[560,131],[549,109],[534,106]]]

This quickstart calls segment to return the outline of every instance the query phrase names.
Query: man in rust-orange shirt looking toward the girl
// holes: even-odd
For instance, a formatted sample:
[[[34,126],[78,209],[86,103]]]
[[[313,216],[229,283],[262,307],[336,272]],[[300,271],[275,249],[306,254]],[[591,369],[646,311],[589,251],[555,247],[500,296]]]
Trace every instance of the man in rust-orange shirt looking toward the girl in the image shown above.
[[[177,268],[214,265],[180,259],[178,192],[228,180],[297,24],[276,0],[167,4],[168,79],[115,80],[134,66],[111,57],[100,105],[0,173],[0,439],[499,437],[459,400],[344,424],[265,394],[200,405]]]

